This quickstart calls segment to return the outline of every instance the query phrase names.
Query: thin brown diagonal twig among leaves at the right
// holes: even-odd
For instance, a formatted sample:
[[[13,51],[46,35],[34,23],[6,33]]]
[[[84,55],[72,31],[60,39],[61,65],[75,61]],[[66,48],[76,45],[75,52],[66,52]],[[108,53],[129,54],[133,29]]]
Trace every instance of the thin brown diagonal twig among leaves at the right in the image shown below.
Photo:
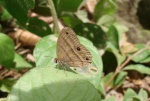
[[[126,66],[126,65],[130,62],[130,60],[131,60],[133,57],[137,56],[138,54],[140,54],[140,53],[142,53],[143,51],[145,51],[145,50],[147,50],[147,49],[150,48],[150,47],[149,47],[149,44],[150,44],[150,43],[148,42],[147,45],[146,45],[147,47],[145,47],[145,48],[143,48],[143,49],[137,51],[136,53],[134,53],[133,55],[131,55],[130,57],[128,57],[128,58],[126,59],[126,61],[125,61],[121,66],[117,67],[117,69],[116,69],[115,73],[113,74],[113,76],[106,82],[106,84],[105,84],[105,89],[106,89],[107,86],[110,84],[110,82],[112,82],[112,80],[117,76],[117,74],[122,70],[122,68],[123,68],[124,66]]]

